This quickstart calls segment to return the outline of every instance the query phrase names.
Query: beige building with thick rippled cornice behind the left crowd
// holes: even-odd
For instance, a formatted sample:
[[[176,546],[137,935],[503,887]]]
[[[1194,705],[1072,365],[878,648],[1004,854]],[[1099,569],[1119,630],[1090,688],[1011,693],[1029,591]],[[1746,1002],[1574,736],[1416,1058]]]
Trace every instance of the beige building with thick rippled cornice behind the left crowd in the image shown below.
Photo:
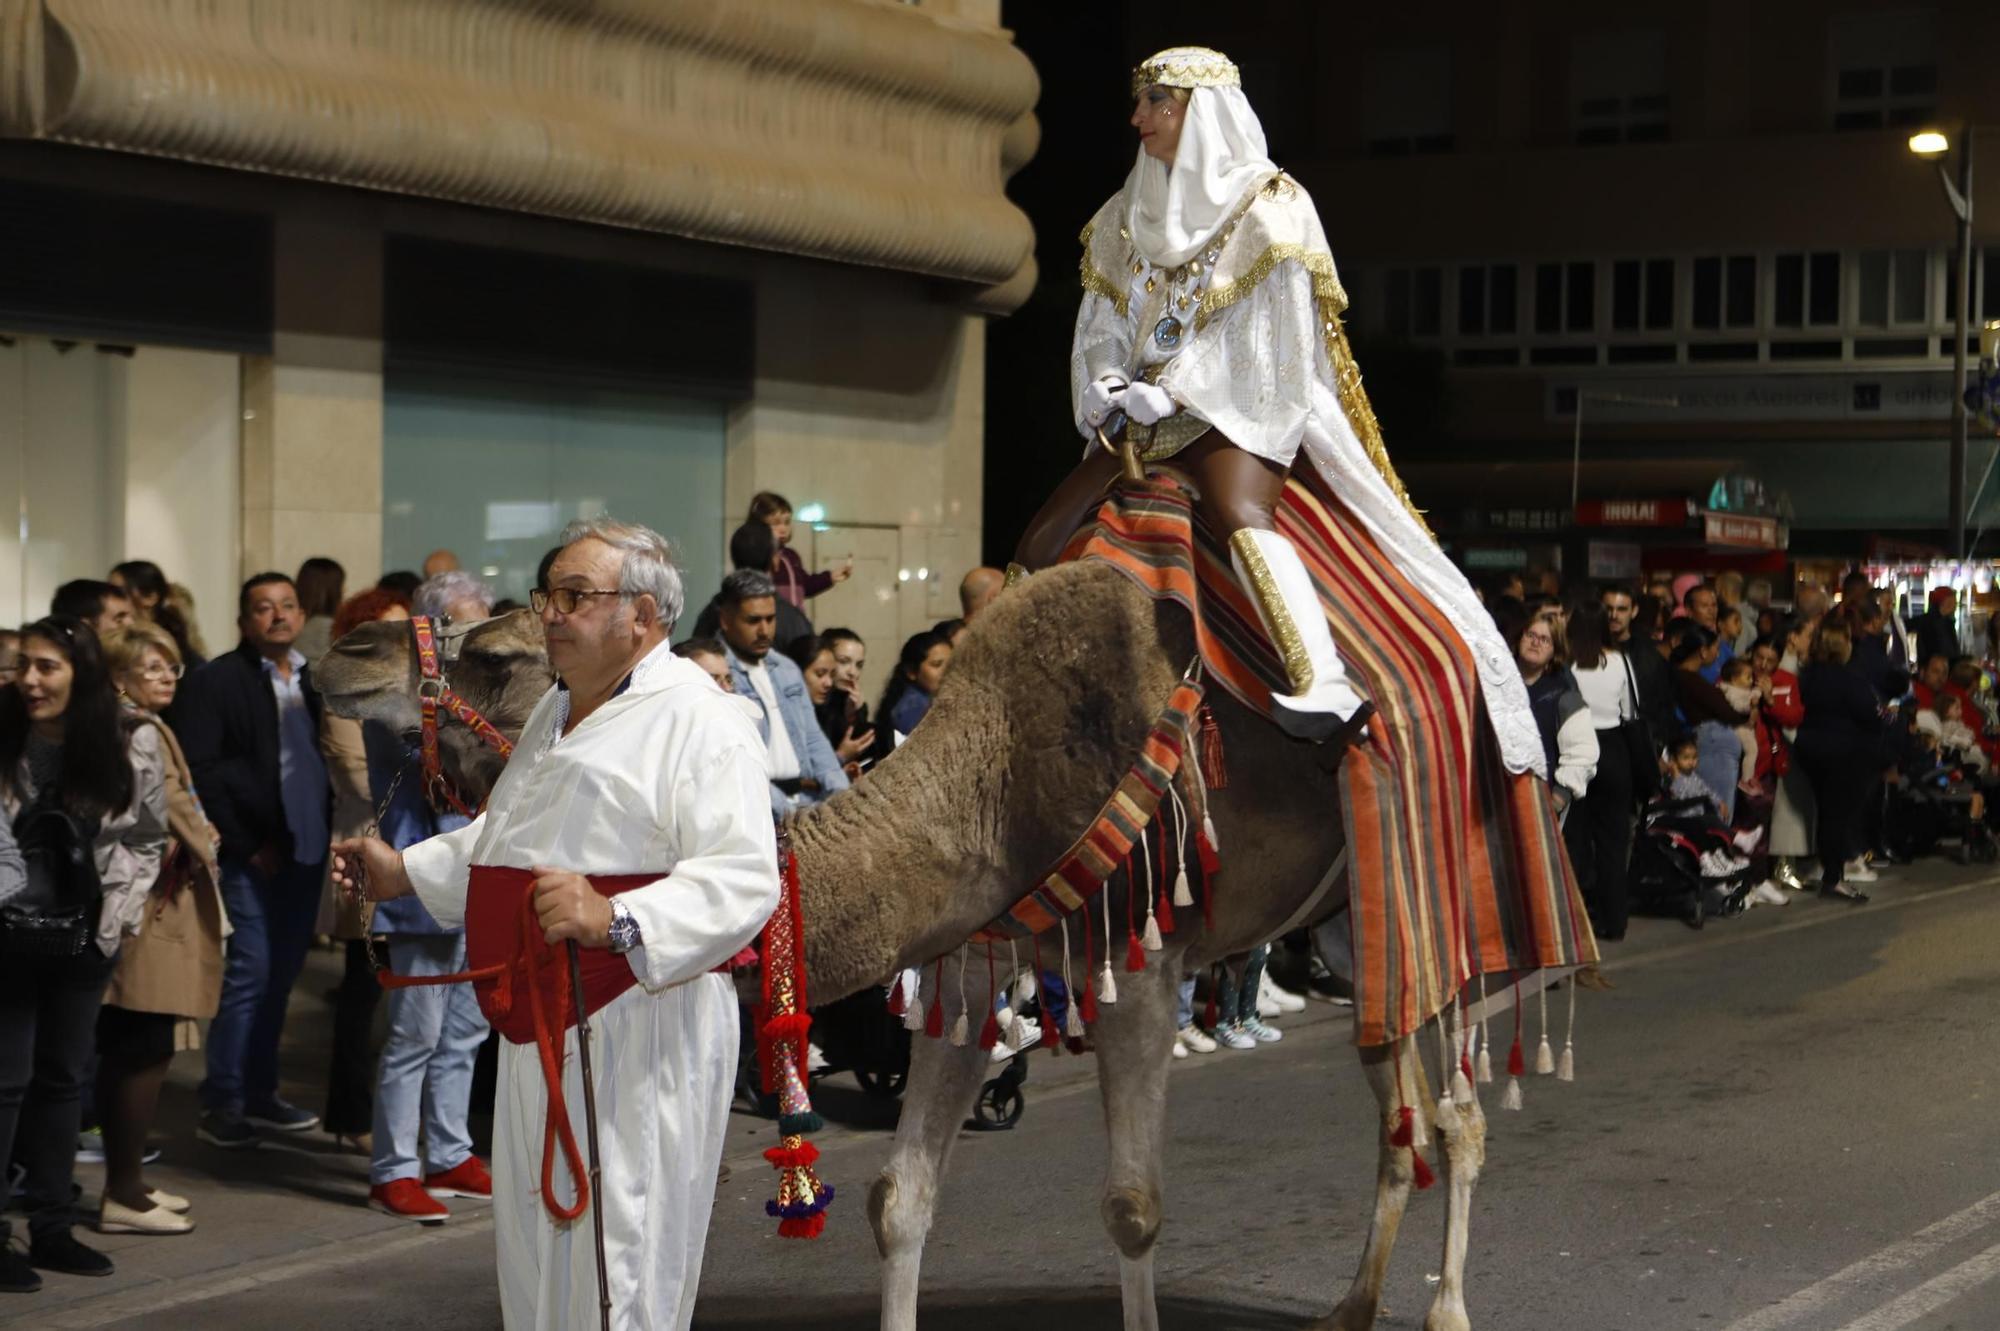
[[[998,0],[0,0],[0,622],[126,558],[210,646],[308,556],[524,598],[596,514],[698,608],[758,490],[856,560],[822,624],[956,614],[1036,90]]]

